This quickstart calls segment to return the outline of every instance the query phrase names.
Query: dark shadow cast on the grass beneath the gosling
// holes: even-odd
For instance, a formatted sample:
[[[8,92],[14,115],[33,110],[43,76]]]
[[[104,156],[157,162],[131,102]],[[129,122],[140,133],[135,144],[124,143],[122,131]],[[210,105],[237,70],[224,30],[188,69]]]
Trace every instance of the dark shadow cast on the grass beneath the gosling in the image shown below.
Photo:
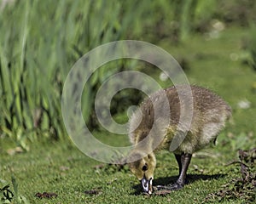
[[[226,174],[222,174],[222,173],[213,174],[213,175],[188,174],[186,179],[186,184],[192,184],[197,180],[212,180],[212,179],[224,178],[225,175]],[[157,179],[154,179],[154,186],[174,184],[176,181],[177,181],[177,176],[157,178]],[[143,188],[141,184],[134,185],[132,188],[135,191],[131,193],[131,195],[141,195],[143,192]]]

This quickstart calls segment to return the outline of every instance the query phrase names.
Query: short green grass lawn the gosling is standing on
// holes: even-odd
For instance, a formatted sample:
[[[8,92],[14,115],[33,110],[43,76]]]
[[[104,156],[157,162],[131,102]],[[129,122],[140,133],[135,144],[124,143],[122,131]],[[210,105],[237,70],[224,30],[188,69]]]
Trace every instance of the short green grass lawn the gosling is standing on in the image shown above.
[[[159,43],[176,58],[188,61],[187,76],[191,83],[211,88],[233,109],[233,118],[219,135],[217,146],[202,150],[192,159],[189,184],[183,190],[166,196],[139,195],[138,181],[127,167],[102,166],[84,156],[69,139],[36,142],[31,144],[30,151],[14,156],[7,154],[13,142],[0,139],[0,187],[11,184],[11,176],[15,176],[20,195],[31,203],[201,203],[208,194],[230,183],[231,178],[240,177],[239,167],[225,166],[237,160],[237,150],[255,147],[256,97],[252,85],[256,82],[256,73],[242,64],[241,59],[230,59],[232,53],[241,54],[240,43],[245,36],[243,29],[231,27],[221,32],[218,39],[207,41],[204,36],[194,35],[177,47],[167,39]],[[158,79],[158,75],[154,77]],[[251,107],[239,109],[237,103],[241,99],[249,100]],[[109,138],[104,131],[96,134],[108,144],[127,144],[124,137]],[[173,182],[177,178],[174,156],[163,151],[157,159],[154,184]],[[87,195],[85,190],[98,190],[99,194]],[[55,192],[58,196],[50,200],[35,196],[44,191]],[[225,199],[223,203],[247,201]]]

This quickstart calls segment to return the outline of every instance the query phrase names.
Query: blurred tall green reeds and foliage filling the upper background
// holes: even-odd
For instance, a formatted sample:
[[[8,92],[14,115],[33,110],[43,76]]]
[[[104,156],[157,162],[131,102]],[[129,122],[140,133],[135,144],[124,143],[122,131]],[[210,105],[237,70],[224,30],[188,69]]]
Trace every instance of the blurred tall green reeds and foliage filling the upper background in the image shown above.
[[[83,54],[102,43],[122,39],[159,42],[168,38],[170,43],[177,44],[188,39],[191,32],[206,31],[214,18],[237,20],[236,14],[227,18],[226,10],[220,10],[240,11],[241,3],[242,8],[250,9],[240,12],[243,18],[239,20],[244,24],[248,16],[254,18],[253,1],[233,2],[26,0],[4,5],[2,2],[1,138],[9,137],[25,150],[29,148],[27,141],[39,137],[63,139],[66,132],[61,119],[61,90],[68,71]],[[102,74],[95,74],[86,84],[84,120],[90,127],[96,126],[91,111],[96,89],[108,76],[124,71],[129,65],[122,60],[116,62],[115,67],[106,65]],[[129,92],[131,90],[115,97],[113,107]],[[137,97],[137,94],[131,95]],[[129,104],[129,99],[125,99]],[[131,97],[133,102],[138,99]],[[112,110],[112,113],[118,111],[123,110]]]

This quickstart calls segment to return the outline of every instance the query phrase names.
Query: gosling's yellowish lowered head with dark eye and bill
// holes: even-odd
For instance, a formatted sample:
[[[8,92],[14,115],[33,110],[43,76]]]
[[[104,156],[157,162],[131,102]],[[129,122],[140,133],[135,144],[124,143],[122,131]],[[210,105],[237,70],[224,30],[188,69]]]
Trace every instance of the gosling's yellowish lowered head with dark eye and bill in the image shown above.
[[[133,156],[142,156],[140,152],[133,153]],[[136,157],[141,158],[141,157]],[[153,192],[153,179],[154,179],[154,168],[156,165],[156,160],[154,153],[144,156],[142,159],[133,161],[129,164],[131,173],[141,181],[143,185],[144,192],[147,192],[149,195]]]

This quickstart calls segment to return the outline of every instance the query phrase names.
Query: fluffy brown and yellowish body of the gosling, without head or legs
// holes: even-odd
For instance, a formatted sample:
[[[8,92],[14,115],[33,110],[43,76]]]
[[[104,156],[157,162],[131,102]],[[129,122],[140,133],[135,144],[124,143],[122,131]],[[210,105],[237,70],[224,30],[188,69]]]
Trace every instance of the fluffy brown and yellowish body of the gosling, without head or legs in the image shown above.
[[[177,89],[175,87],[166,88],[164,91],[169,100],[171,122],[166,130],[165,139],[156,150],[169,150],[172,138],[174,137],[177,125],[179,124],[180,109],[186,105],[180,105]],[[191,91],[193,96],[192,122],[188,128],[188,133],[185,139],[174,153],[185,152],[193,154],[195,151],[201,150],[201,148],[204,148],[207,144],[217,138],[218,133],[224,127],[225,121],[231,116],[230,106],[217,94],[212,93],[207,88],[196,86],[191,86]],[[186,95],[188,92],[189,89],[184,86],[182,94]],[[160,94],[161,92],[157,92],[143,101],[140,106],[143,117],[138,127],[138,119],[140,118],[138,115],[140,112],[137,111],[131,116],[130,129],[135,129],[135,131],[129,134],[132,144],[137,144],[148,136],[154,122],[154,108],[151,101],[159,99],[161,97]],[[154,135],[154,137],[157,136],[158,135]]]

